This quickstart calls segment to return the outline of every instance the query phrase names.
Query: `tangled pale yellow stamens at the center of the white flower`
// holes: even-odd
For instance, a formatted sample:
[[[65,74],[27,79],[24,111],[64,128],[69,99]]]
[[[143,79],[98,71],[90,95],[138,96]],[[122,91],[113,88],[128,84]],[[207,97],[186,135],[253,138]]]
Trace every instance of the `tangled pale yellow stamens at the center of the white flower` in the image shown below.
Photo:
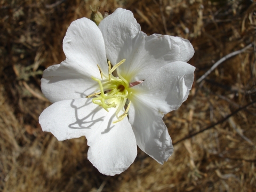
[[[125,59],[116,63],[116,65],[113,68],[111,68],[111,63],[110,61],[108,61],[108,76],[103,74],[99,65],[97,65],[99,68],[100,76],[102,80],[95,77],[92,77],[92,79],[99,83],[99,88],[96,90],[99,92],[95,92],[87,96],[87,98],[93,97],[92,102],[97,105],[100,105],[106,111],[108,111],[108,109],[111,107],[114,107],[114,108],[117,107],[116,109],[117,120],[114,121],[113,123],[122,121],[127,116],[128,110],[131,105],[131,101],[130,101],[124,113],[118,116],[119,112],[122,109],[124,109],[127,99],[132,94],[132,92],[129,91],[129,83],[119,73],[118,67],[122,65],[122,63],[124,62],[125,62]],[[115,77],[112,75],[113,71],[115,70],[117,71],[118,77]],[[106,79],[103,79],[103,76]]]

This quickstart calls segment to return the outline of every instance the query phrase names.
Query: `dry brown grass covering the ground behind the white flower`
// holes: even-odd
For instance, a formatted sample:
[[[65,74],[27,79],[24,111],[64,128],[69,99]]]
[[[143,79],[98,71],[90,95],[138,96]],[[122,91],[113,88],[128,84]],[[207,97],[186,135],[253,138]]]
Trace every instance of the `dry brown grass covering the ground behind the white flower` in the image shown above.
[[[223,56],[255,44],[256,3],[250,0],[1,0],[0,190],[256,191],[255,104],[177,143],[255,101],[254,47],[195,83],[181,108],[164,117],[177,143],[164,165],[139,150],[128,170],[108,177],[87,160],[84,137],[59,142],[42,132],[38,116],[51,104],[41,93],[42,71],[65,59],[67,27],[89,17],[90,4],[101,4],[102,13],[131,10],[147,34],[189,39],[195,79]]]

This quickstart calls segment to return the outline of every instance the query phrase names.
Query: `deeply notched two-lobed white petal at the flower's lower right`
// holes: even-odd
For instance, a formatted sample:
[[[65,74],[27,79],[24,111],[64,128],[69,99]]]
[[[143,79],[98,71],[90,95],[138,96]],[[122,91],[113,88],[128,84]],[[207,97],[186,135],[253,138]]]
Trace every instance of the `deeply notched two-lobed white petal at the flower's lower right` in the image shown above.
[[[163,164],[173,153],[172,141],[162,117],[180,107],[193,84],[195,67],[185,62],[167,64],[131,88],[129,121],[137,145]]]

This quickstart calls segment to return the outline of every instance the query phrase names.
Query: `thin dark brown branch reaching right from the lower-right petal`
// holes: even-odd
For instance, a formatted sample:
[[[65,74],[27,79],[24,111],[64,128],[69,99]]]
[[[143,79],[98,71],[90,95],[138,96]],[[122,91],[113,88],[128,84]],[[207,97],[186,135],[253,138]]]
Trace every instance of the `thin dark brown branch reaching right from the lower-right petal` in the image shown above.
[[[250,105],[252,105],[252,104],[255,103],[255,102],[256,102],[256,100],[253,100],[252,102],[248,103],[247,105],[238,108],[238,109],[235,110],[233,113],[229,114],[228,116],[226,116],[225,118],[221,119],[221,120],[218,121],[217,123],[213,123],[212,125],[209,125],[209,126],[205,127],[204,129],[202,129],[202,130],[200,130],[200,131],[197,131],[197,132],[195,132],[195,133],[189,134],[189,135],[187,135],[186,137],[184,137],[184,138],[182,138],[182,139],[180,139],[180,140],[178,140],[178,141],[173,142],[172,144],[173,144],[173,145],[177,145],[177,144],[178,144],[179,142],[181,142],[181,141],[184,141],[184,140],[186,140],[186,139],[192,138],[192,137],[194,137],[195,135],[197,135],[197,134],[199,134],[199,133],[202,133],[202,132],[211,129],[212,127],[214,127],[214,126],[216,126],[216,125],[218,125],[218,124],[220,124],[220,123],[223,123],[223,122],[227,121],[227,119],[228,119],[229,117],[231,117],[231,116],[237,114],[239,111],[245,109],[246,107],[249,107]]]

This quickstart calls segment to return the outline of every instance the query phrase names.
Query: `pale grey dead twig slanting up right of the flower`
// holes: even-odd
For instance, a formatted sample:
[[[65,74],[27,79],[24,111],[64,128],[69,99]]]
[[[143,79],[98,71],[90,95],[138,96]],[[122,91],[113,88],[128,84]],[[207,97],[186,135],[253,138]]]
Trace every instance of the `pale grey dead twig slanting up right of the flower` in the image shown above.
[[[199,79],[197,79],[196,83],[200,83],[201,81],[203,81],[203,79],[205,77],[207,77],[216,67],[218,67],[220,65],[220,63],[222,63],[223,61],[226,61],[227,59],[231,58],[231,57],[234,57],[235,55],[239,54],[239,53],[242,53],[244,51],[246,51],[247,49],[249,49],[251,46],[253,46],[253,43],[247,45],[246,47],[244,47],[243,49],[241,50],[238,50],[238,51],[234,51],[232,53],[229,53],[227,54],[225,57],[221,58],[219,61],[215,62],[214,65],[206,71],[206,73],[200,77]]]

